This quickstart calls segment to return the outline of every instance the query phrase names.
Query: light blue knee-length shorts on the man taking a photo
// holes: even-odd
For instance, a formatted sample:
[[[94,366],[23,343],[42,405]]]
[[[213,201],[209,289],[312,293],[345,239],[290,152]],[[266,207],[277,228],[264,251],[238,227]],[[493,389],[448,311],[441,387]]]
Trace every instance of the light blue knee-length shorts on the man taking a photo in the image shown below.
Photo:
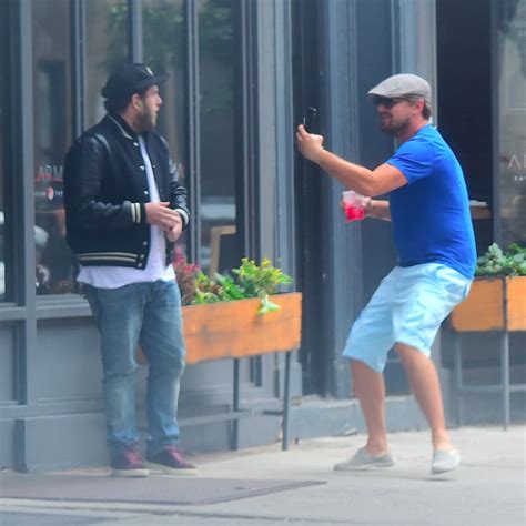
[[[354,322],[343,357],[381,373],[396,343],[429,356],[441,323],[471,285],[472,280],[439,263],[395,266]]]

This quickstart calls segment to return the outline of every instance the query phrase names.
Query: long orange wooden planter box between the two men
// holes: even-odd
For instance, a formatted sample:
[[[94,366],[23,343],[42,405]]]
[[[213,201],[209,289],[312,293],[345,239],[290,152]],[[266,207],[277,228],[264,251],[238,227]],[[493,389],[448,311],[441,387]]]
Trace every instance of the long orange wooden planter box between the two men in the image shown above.
[[[259,315],[257,299],[183,306],[186,363],[240,358],[297,348],[302,294],[276,294],[277,312]],[[139,351],[138,361],[145,363]]]

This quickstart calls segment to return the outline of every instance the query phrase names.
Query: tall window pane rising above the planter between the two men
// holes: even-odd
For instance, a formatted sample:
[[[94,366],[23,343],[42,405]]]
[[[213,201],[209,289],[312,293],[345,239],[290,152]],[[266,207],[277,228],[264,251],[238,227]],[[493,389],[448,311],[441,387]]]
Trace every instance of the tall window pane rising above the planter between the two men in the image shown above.
[[[241,237],[232,235],[239,222],[236,202],[235,70],[240,52],[234,45],[234,17],[231,0],[199,1],[199,85],[201,125],[201,229],[200,263],[210,270],[216,263],[221,272],[239,266]],[[240,179],[237,179],[240,181]],[[219,229],[220,226],[226,229]],[[214,230],[212,230],[214,229]],[[220,242],[221,257],[212,252],[212,237]],[[216,237],[218,239],[218,237]]]

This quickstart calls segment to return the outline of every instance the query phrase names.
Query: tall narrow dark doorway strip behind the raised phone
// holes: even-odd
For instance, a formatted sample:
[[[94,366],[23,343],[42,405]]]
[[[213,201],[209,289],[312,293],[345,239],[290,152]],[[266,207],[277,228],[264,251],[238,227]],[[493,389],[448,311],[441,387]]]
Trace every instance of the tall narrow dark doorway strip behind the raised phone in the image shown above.
[[[293,0],[293,79],[294,79],[294,122],[302,122],[307,107],[320,108],[321,62],[318,0],[305,2]],[[317,121],[323,133],[323,122]],[[325,335],[323,306],[322,221],[312,210],[322,210],[323,179],[316,176],[318,169],[305,161],[296,152],[294,192],[296,195],[296,281],[303,293],[302,365],[303,394],[325,395],[327,385],[327,365],[323,354]]]

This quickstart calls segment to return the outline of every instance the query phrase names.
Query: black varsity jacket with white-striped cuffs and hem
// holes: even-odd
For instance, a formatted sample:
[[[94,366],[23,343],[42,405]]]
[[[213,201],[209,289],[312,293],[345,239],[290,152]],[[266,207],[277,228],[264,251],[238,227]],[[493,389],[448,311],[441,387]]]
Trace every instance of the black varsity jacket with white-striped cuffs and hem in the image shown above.
[[[170,201],[188,226],[186,190],[178,183],[166,141],[142,134],[161,201]],[[150,201],[138,135],[119,115],[108,114],[70,148],[64,161],[68,243],[82,265],[144,269],[150,251]],[[166,246],[172,243],[166,241]]]

